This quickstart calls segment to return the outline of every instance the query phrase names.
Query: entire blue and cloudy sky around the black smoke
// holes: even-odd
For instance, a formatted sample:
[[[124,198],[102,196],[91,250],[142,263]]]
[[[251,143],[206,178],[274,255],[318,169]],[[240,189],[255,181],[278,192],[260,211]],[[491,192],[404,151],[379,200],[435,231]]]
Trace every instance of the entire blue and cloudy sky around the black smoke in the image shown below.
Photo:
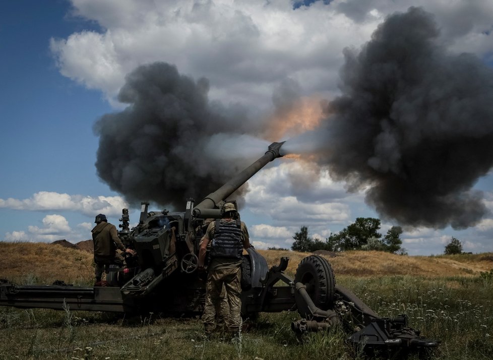
[[[96,175],[93,125],[124,108],[118,89],[139,65],[162,61],[193,79],[205,76],[211,100],[240,103],[259,118],[276,116],[272,99],[294,79],[297,110],[289,115],[300,118],[338,94],[344,47],[364,44],[388,14],[421,5],[435,14],[451,51],[474,53],[491,66],[493,9],[482,2],[164,3],[0,2],[0,239],[75,243],[90,238],[94,215],[106,211],[115,223],[123,206],[137,220],[138,204],[126,203]],[[280,135],[298,134],[303,121]],[[356,217],[378,217],[362,193],[347,193],[325,171],[307,186],[311,195],[306,189],[293,195],[289,187],[274,194],[275,179],[294,184],[310,171],[278,159],[252,179],[242,219],[258,247],[288,248],[303,225],[325,238]],[[479,179],[476,189],[491,209],[491,177]],[[383,232],[394,224],[384,222]],[[411,255],[426,255],[442,253],[452,235],[466,251],[493,251],[492,234],[487,217],[466,230],[409,228],[403,235]]]

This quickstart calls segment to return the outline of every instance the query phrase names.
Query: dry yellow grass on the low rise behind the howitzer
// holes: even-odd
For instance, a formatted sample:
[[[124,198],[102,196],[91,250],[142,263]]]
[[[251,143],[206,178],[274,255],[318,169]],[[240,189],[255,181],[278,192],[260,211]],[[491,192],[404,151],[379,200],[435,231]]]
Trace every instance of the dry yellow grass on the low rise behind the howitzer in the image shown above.
[[[294,275],[299,262],[310,253],[259,250],[270,266],[290,258],[286,272]],[[92,254],[44,243],[0,242],[0,278],[21,281],[54,280],[89,283],[93,279]],[[460,256],[401,256],[377,251],[348,251],[324,256],[336,276],[413,275],[427,277],[477,276],[493,268],[493,254]]]

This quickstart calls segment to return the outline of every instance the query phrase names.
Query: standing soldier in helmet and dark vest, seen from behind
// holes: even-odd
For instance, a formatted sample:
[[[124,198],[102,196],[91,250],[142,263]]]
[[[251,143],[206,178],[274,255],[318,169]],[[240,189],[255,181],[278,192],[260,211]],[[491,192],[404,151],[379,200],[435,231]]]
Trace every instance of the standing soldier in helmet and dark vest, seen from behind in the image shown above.
[[[209,314],[221,313],[221,290],[224,285],[229,305],[227,326],[231,335],[236,337],[241,326],[241,258],[243,249],[250,248],[250,237],[245,223],[237,219],[238,212],[232,203],[224,204],[222,210],[222,219],[212,221],[207,227],[199,251],[199,270],[204,271],[207,245],[212,241],[206,285],[206,299],[210,298],[210,302],[206,301],[203,320],[206,333],[210,334]]]

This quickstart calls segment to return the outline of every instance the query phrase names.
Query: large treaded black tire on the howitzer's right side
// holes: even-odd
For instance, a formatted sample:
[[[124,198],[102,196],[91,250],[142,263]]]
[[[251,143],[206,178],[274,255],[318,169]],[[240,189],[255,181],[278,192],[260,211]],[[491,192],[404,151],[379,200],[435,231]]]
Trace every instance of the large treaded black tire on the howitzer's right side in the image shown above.
[[[336,280],[332,266],[325,258],[311,255],[301,260],[294,275],[294,283],[297,282],[306,286],[306,291],[319,309],[328,310],[334,304]],[[299,315],[302,318],[310,318],[311,312],[297,291],[294,293],[294,299]]]

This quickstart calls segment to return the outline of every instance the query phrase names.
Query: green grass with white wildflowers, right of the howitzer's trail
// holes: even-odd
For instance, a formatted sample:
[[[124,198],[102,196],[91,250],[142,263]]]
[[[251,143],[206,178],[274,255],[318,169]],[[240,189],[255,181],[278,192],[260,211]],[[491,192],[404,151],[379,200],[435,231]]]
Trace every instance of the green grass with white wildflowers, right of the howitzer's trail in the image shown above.
[[[493,282],[410,276],[345,280],[380,316],[405,313],[411,327],[441,340],[439,358],[493,358]]]

